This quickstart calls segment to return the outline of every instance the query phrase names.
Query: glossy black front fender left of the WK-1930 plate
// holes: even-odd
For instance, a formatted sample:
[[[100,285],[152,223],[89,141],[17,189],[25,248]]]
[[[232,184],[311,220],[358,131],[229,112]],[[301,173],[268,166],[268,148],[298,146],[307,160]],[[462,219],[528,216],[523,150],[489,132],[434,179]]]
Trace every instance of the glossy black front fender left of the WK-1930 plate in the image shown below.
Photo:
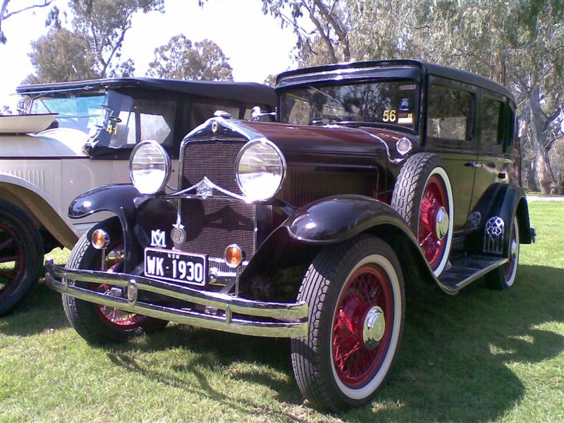
[[[147,198],[130,184],[104,185],[76,197],[68,206],[68,216],[80,219],[98,212],[115,214],[123,230],[125,269],[132,271],[142,255],[142,247],[135,237],[137,207]]]

